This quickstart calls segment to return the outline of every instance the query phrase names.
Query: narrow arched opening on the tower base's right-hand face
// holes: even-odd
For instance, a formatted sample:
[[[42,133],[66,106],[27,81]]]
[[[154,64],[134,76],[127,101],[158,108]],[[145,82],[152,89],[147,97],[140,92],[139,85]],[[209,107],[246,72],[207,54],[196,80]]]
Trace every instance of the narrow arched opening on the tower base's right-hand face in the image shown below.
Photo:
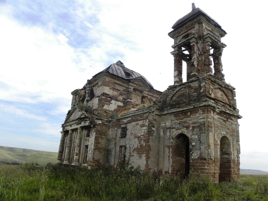
[[[232,175],[232,152],[228,137],[220,141],[219,181],[230,181]]]

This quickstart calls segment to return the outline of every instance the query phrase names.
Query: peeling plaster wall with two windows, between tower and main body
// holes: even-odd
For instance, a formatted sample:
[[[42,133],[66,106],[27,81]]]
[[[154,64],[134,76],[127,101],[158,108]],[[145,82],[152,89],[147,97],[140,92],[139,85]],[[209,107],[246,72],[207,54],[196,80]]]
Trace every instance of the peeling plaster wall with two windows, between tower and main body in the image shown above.
[[[126,146],[126,159],[142,170],[158,172],[159,126],[150,114],[125,118],[111,123],[108,163],[118,166],[120,146]],[[157,122],[157,121],[156,121]],[[120,137],[121,128],[127,126],[126,137]]]

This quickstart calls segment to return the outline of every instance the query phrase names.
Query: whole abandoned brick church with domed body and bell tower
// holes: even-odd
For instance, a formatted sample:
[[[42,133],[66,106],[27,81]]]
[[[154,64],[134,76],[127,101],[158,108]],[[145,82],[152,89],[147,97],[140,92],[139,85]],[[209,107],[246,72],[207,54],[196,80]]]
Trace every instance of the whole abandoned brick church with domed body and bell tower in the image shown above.
[[[57,163],[120,168],[129,159],[159,174],[238,179],[241,116],[222,73],[226,32],[194,4],[172,29],[174,85],[157,91],[121,61],[97,73],[71,93]]]

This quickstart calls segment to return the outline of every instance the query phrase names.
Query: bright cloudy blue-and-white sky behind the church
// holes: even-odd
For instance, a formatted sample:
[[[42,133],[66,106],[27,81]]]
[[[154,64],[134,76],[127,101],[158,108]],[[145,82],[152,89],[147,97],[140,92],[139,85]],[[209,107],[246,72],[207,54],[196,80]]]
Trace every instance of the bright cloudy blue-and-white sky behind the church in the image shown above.
[[[173,84],[168,33],[191,12],[191,3],[0,0],[0,146],[58,152],[70,93],[118,60],[155,89],[166,90]],[[222,64],[243,116],[240,168],[263,171],[268,171],[267,4],[195,1],[228,33]]]

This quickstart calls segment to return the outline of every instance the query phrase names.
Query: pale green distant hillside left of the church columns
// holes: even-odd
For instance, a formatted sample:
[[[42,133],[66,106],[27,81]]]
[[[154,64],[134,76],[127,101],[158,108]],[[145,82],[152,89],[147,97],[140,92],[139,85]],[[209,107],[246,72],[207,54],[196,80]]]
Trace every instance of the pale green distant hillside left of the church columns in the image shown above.
[[[46,165],[48,162],[56,163],[57,156],[57,152],[0,146],[1,161],[20,161],[21,163],[38,162],[40,165]]]

